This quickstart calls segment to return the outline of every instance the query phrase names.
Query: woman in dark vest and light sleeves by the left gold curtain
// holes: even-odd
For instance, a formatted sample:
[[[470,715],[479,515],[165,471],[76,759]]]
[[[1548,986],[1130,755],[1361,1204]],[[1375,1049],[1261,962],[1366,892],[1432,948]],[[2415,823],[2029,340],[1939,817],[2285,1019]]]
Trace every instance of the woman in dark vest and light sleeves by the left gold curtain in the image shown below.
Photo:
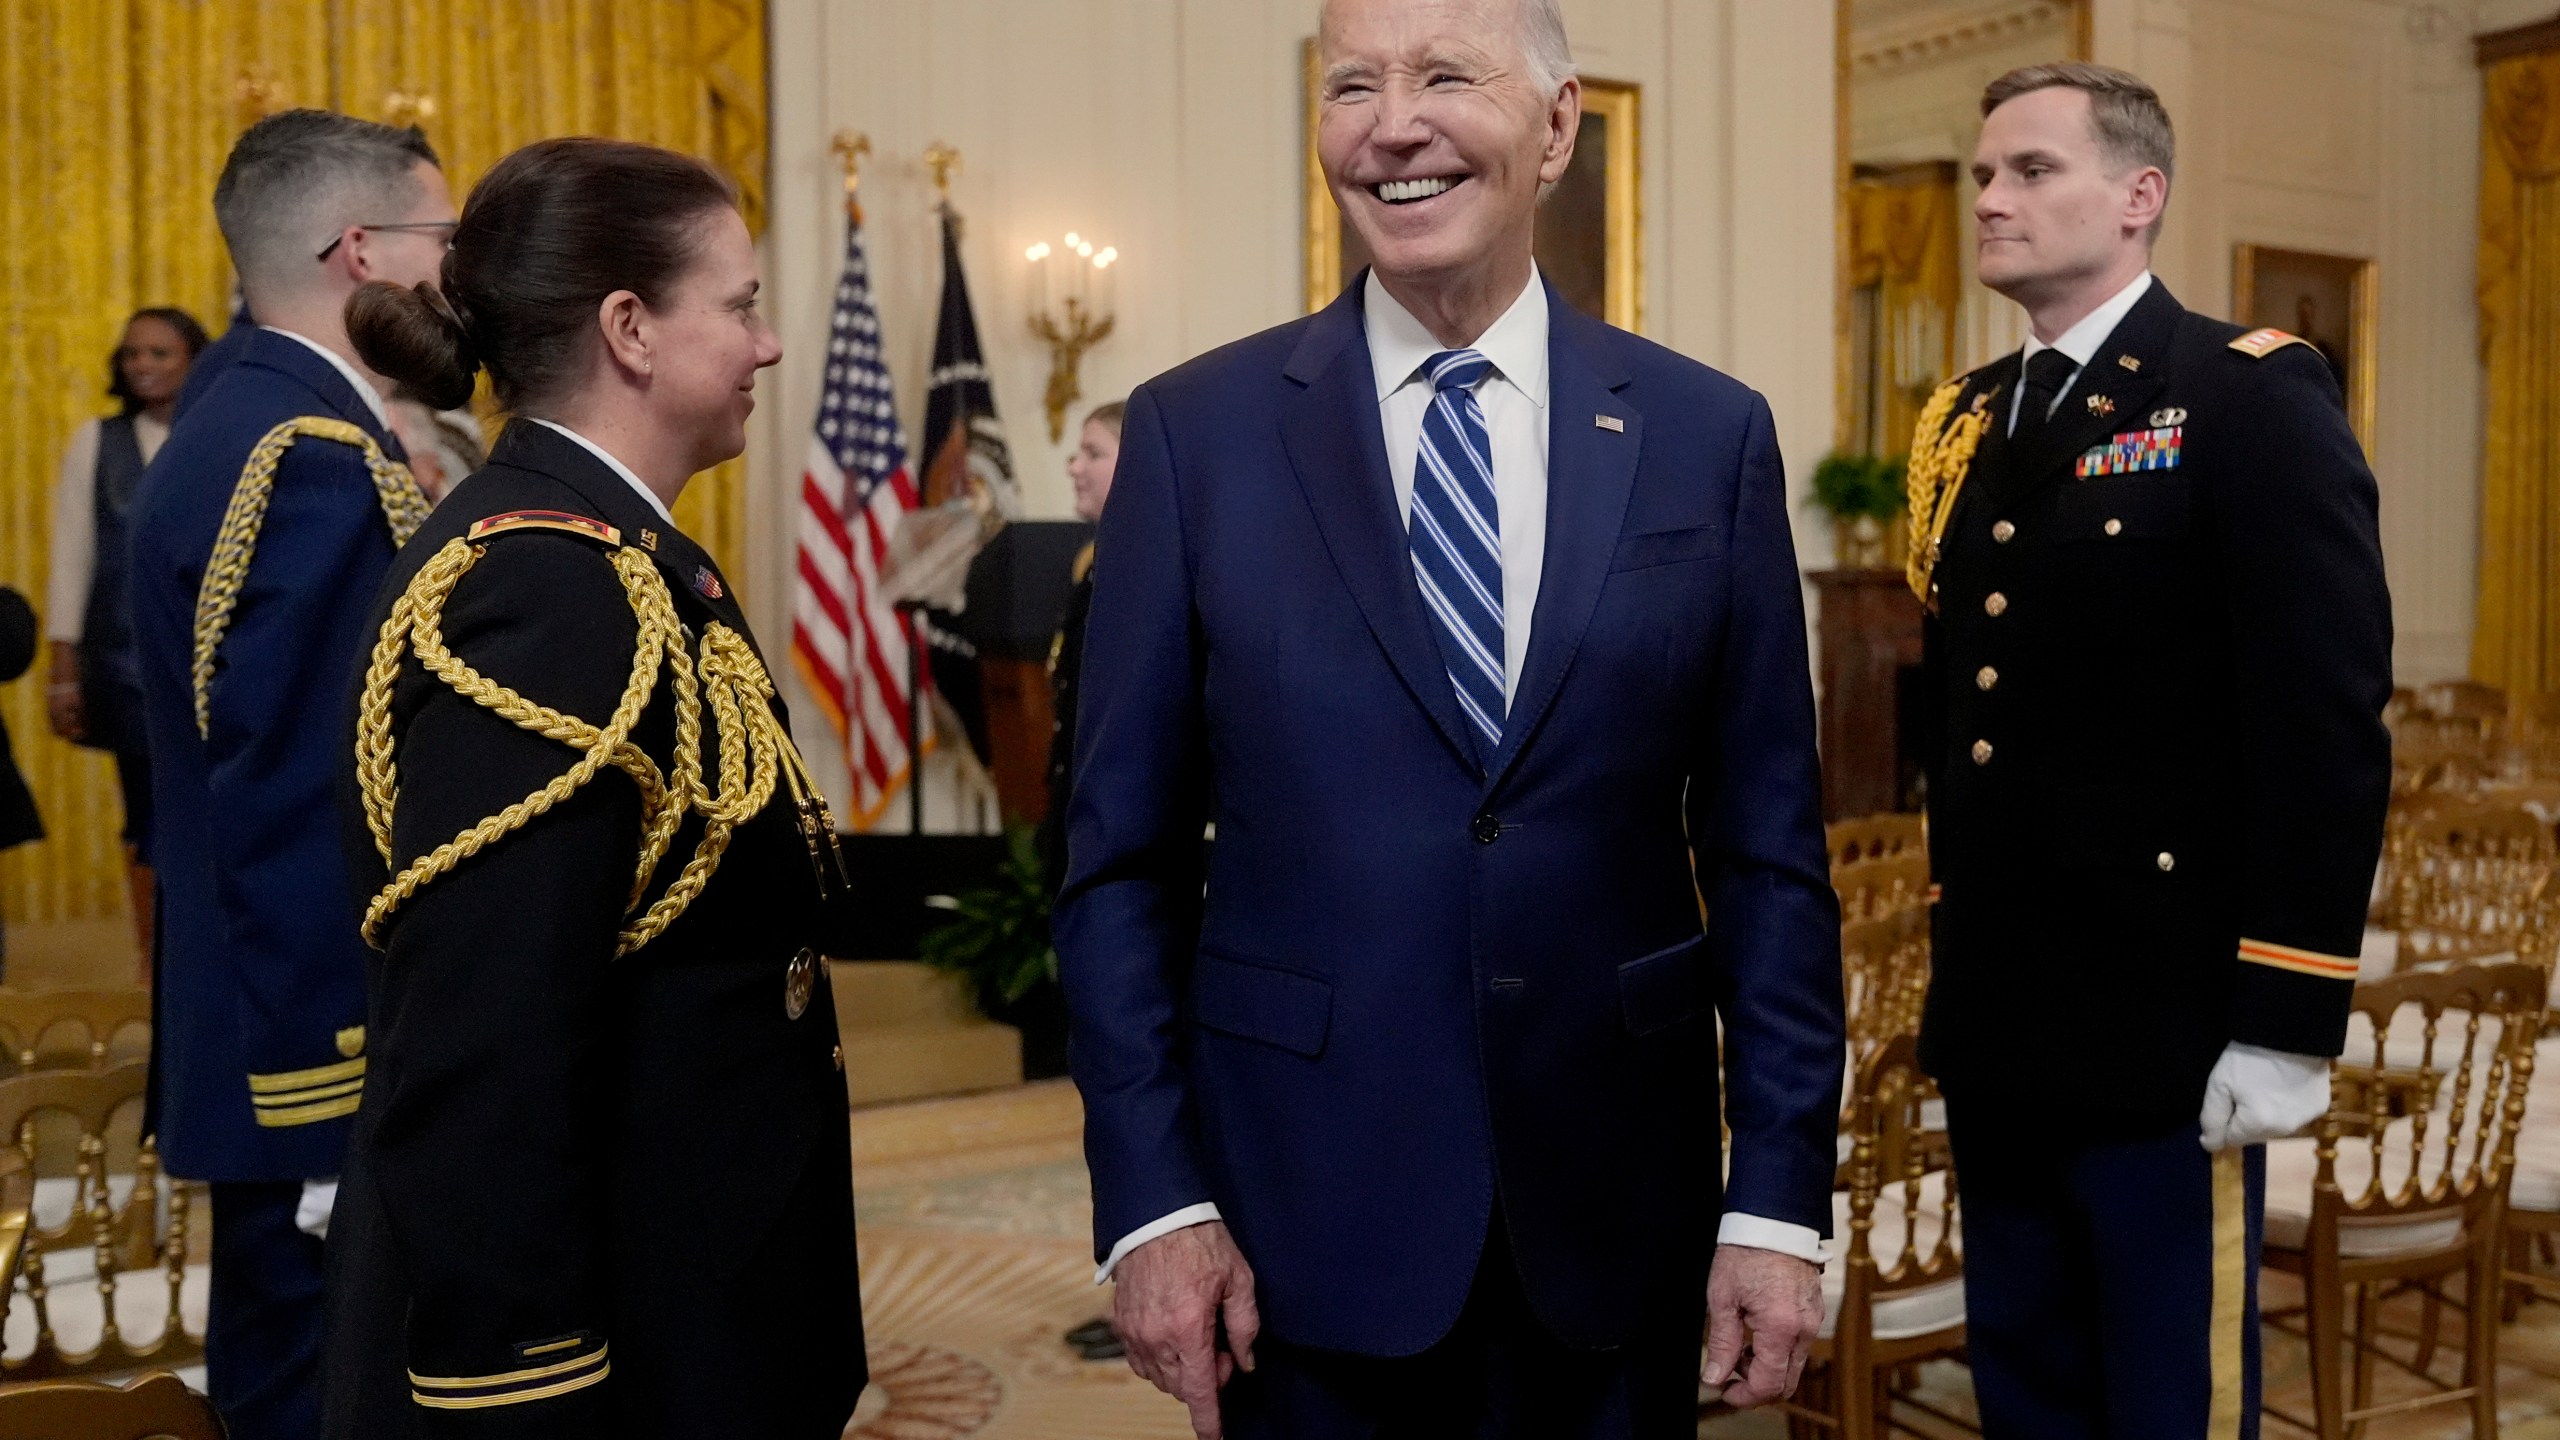
[[[54,559],[44,587],[51,641],[44,712],[64,740],[115,756],[125,876],[143,956],[151,956],[151,761],[143,753],[141,682],[125,612],[125,510],[143,466],[169,438],[179,387],[200,354],[205,328],[184,310],[156,305],[125,320],[125,336],[108,356],[108,395],[123,407],[74,430],[61,454]]]

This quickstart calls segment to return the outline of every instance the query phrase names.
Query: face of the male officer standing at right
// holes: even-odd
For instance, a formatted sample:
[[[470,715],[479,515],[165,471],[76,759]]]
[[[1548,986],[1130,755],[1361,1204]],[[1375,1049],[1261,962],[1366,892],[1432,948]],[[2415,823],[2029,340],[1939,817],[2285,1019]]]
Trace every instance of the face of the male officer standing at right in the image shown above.
[[[2030,90],[1981,123],[1974,149],[1981,282],[2028,310],[2097,290],[2104,300],[2150,264],[2168,200],[2156,167],[2109,164],[2089,92]]]

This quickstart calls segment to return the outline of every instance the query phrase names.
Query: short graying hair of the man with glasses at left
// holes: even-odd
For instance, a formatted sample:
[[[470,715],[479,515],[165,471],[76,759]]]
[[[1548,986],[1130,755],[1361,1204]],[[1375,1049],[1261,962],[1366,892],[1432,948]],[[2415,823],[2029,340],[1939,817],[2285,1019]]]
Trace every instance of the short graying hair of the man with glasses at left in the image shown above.
[[[438,164],[417,128],[330,110],[282,110],[230,146],[212,220],[241,284],[292,287],[348,225],[384,225],[417,202],[417,164]]]

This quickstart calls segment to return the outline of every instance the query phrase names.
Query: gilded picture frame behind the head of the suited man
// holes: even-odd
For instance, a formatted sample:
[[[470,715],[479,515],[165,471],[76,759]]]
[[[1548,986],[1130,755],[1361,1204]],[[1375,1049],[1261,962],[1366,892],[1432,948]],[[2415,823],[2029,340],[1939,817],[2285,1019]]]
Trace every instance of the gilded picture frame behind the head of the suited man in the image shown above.
[[[1349,236],[1316,156],[1324,74],[1306,41],[1306,310],[1341,295],[1367,256]],[[1582,138],[1572,169],[1539,210],[1539,269],[1577,305],[1620,331],[1644,331],[1644,90],[1582,77]]]

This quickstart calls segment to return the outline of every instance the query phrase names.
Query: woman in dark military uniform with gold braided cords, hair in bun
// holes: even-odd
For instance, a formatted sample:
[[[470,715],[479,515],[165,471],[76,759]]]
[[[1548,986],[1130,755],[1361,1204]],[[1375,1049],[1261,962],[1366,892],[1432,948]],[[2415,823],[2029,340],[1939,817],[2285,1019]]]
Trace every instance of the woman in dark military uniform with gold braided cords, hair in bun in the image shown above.
[[[443,295],[348,305],[512,423],[402,551],[356,705],[374,943],[330,1232],[333,1437],[835,1440],[863,1389],[832,820],[719,566],[668,518],[781,359],[704,164],[543,141]]]

